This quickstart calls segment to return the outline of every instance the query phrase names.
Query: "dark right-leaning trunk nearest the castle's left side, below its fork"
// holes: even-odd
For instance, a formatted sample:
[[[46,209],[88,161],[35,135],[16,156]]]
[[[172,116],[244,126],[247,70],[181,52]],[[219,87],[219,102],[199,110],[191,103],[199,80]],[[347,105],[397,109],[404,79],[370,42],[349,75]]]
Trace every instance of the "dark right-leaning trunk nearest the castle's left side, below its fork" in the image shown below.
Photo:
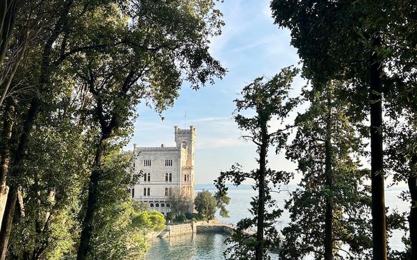
[[[79,250],[76,255],[77,260],[83,260],[87,257],[90,250],[90,239],[92,236],[92,222],[97,211],[98,186],[101,172],[101,161],[106,149],[106,137],[101,136],[97,144],[95,161],[93,163],[92,172],[90,176],[90,183],[88,184],[88,200],[87,208],[85,209],[85,218],[83,220],[83,230],[81,231]]]

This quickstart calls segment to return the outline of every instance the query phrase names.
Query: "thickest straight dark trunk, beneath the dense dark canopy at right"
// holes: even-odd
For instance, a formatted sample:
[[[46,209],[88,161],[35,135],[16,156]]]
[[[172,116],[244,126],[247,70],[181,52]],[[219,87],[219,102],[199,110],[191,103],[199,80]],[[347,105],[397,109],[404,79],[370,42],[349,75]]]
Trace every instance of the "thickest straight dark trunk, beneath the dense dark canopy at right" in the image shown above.
[[[379,38],[373,38],[373,49]],[[384,151],[382,148],[382,66],[376,51],[370,55],[370,178],[372,186],[373,259],[386,260]]]

